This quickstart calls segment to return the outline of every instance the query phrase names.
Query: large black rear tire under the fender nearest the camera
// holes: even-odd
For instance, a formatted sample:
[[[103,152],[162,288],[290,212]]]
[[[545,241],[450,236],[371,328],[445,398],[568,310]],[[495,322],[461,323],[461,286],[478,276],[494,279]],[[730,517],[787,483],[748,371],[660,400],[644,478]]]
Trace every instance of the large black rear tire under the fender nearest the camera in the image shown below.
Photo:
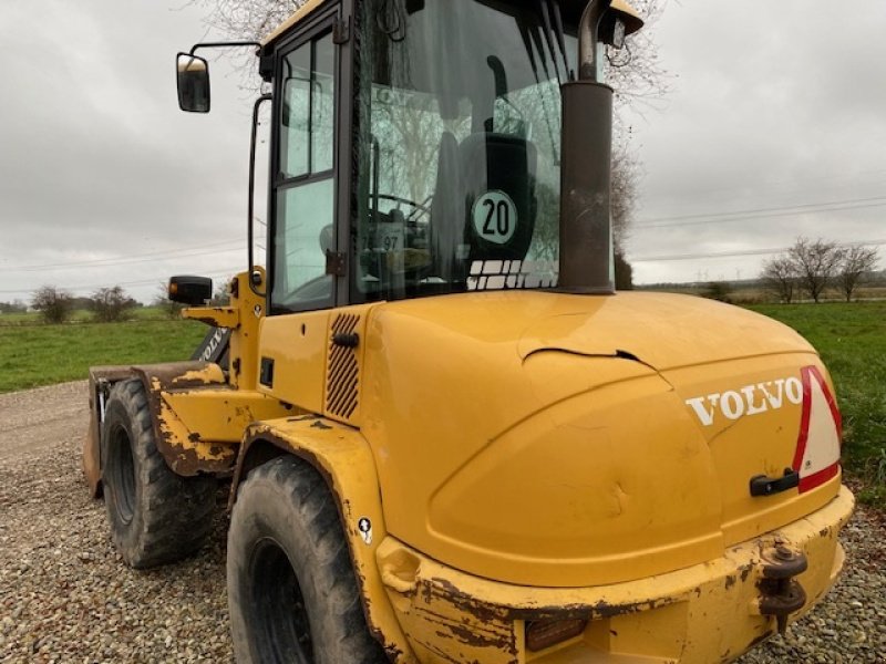
[[[300,459],[278,457],[240,485],[227,577],[240,664],[389,661],[367,627],[332,496]]]

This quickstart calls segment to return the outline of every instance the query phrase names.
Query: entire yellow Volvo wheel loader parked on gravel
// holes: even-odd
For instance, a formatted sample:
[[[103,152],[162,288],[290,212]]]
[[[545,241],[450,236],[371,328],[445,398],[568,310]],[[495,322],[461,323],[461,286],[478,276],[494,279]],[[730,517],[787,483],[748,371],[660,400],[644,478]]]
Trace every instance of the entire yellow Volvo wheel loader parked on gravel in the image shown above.
[[[238,661],[728,662],[834,583],[853,497],[813,347],[614,290],[605,48],[640,27],[309,0],[255,45],[267,256],[250,212],[229,305],[172,279],[205,347],[92,370],[84,454],[135,568],[195,552],[230,483]],[[186,111],[210,45],[178,55]]]

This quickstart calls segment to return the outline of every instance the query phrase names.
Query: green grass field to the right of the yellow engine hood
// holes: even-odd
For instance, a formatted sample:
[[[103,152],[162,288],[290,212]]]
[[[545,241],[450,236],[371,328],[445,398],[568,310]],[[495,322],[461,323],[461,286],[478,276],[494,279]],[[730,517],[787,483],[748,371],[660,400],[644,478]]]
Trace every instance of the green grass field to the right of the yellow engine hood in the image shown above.
[[[844,464],[859,498],[886,507],[886,302],[758,304],[821,353],[843,414]]]

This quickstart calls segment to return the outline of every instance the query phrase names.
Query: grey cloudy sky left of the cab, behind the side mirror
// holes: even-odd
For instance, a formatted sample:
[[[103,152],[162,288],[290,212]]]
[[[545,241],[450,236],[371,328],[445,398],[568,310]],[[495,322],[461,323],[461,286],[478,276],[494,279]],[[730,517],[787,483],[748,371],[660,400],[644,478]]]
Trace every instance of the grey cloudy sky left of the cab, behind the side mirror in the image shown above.
[[[133,283],[147,299],[174,271],[241,268],[249,117],[239,77],[214,62],[219,103],[207,117],[175,101],[174,55],[204,35],[200,13],[147,0],[40,4],[0,7],[0,300],[41,283],[81,293]],[[59,263],[81,264],[17,269]]]

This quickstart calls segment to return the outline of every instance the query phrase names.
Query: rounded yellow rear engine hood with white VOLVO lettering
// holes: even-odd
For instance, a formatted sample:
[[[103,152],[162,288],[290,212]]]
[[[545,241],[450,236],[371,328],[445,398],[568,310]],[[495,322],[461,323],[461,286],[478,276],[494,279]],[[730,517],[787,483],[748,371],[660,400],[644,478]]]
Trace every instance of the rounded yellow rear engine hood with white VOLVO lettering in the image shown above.
[[[751,477],[795,456],[802,408],[785,381],[794,395],[803,375],[826,373],[796,333],[734,307],[652,293],[429,298],[375,307],[364,352],[361,428],[388,531],[468,573],[559,587],[663,573],[838,488],[828,476],[803,495],[749,495]],[[748,386],[750,415],[738,416]],[[761,405],[765,390],[777,407]],[[723,394],[725,411],[711,397]]]

